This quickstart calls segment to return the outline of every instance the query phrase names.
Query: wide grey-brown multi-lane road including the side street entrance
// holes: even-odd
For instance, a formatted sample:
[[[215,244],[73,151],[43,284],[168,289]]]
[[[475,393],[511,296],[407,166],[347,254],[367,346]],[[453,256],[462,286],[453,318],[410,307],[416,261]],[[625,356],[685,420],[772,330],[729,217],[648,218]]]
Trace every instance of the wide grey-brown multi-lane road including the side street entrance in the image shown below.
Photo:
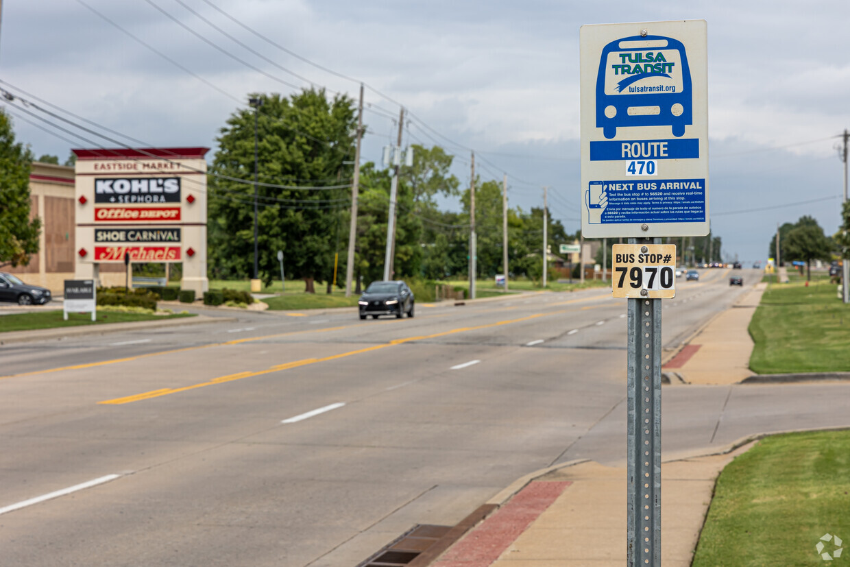
[[[744,291],[702,271],[666,349]],[[625,458],[609,292],[298,315],[0,348],[3,564],[355,565],[526,473]],[[846,388],[665,388],[664,451],[843,424]]]

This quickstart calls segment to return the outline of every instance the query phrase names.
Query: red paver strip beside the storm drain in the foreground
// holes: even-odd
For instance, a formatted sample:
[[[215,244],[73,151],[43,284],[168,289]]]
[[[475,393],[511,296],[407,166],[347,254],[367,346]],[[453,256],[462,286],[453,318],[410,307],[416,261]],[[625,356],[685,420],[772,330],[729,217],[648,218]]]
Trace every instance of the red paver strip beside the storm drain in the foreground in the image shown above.
[[[536,481],[467,534],[439,559],[439,567],[488,567],[572,482]]]

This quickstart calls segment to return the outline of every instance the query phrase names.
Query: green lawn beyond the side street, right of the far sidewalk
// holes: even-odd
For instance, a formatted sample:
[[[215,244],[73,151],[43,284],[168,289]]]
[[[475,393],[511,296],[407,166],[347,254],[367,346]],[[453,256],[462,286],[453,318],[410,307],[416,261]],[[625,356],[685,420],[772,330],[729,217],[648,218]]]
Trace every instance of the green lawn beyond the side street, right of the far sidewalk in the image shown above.
[[[850,305],[828,279],[769,284],[750,322],[760,374],[850,371]]]

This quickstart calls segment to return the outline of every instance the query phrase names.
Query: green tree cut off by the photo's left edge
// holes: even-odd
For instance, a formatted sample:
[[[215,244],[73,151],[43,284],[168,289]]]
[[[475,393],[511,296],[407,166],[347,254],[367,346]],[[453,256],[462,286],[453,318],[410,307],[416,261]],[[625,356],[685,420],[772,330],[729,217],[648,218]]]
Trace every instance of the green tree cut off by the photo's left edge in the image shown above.
[[[0,267],[30,263],[38,252],[41,219],[30,219],[32,152],[14,141],[12,121],[0,110]]]

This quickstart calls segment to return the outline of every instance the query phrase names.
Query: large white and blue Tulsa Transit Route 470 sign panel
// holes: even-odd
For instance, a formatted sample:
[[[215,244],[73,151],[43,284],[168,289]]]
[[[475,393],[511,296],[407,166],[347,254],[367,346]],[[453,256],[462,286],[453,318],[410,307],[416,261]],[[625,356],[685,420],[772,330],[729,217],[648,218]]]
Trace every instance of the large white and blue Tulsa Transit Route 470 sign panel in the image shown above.
[[[704,236],[706,20],[581,26],[581,233]]]

